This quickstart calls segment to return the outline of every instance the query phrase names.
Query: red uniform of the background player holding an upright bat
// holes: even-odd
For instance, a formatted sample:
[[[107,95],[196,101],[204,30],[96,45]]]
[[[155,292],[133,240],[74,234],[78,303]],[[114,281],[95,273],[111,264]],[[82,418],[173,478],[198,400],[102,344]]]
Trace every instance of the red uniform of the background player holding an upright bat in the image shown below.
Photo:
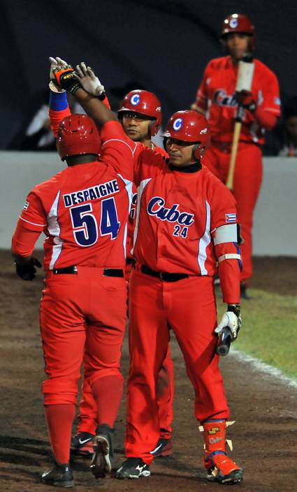
[[[261,61],[254,59],[252,94],[258,110],[269,117],[280,115],[280,91],[275,74]],[[205,111],[210,123],[212,142],[203,164],[208,166],[222,182],[226,183],[229,171],[234,117],[237,102],[235,88],[238,66],[231,57],[213,59],[205,68],[201,86],[197,92],[196,106]],[[265,129],[256,113],[245,110],[236,158],[233,194],[238,209],[244,243],[242,251],[242,280],[252,275],[252,216],[262,180],[261,149]]]

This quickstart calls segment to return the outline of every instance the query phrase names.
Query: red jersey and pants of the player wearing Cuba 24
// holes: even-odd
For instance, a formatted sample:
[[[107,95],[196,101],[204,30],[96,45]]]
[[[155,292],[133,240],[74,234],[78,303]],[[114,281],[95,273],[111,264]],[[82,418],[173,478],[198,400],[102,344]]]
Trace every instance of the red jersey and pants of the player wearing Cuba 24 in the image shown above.
[[[136,154],[139,151],[136,150]],[[193,172],[191,172],[193,171]],[[129,296],[131,362],[126,456],[152,461],[159,437],[156,382],[175,332],[196,393],[195,415],[226,419],[218,356],[213,275],[219,265],[224,302],[239,303],[236,203],[197,163],[181,172],[150,150],[138,154],[136,227]]]

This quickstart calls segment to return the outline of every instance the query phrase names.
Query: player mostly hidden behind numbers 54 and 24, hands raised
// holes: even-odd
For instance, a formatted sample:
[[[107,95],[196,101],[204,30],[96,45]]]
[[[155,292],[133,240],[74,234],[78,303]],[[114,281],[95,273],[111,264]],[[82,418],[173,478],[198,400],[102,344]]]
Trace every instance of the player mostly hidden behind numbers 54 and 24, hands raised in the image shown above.
[[[66,66],[66,61],[59,58],[57,60],[60,64]],[[53,66],[57,65],[56,59],[51,59]],[[89,93],[96,96],[99,92],[98,87],[101,86],[101,82],[94,75],[92,69],[87,68],[84,63],[76,67],[76,71],[80,76],[80,82],[85,85]],[[92,83],[92,85],[91,85]],[[57,90],[56,87],[50,85],[53,90]],[[57,105],[59,100],[59,105]],[[52,122],[52,129],[54,133],[57,131],[59,121],[65,115],[70,114],[68,103],[66,100],[66,94],[61,94],[59,97],[51,99],[52,107],[50,107],[50,119]],[[105,100],[106,101],[106,100]],[[122,101],[122,105],[118,111],[118,118],[122,122],[125,133],[134,142],[140,142],[145,147],[158,152],[161,155],[167,157],[167,153],[164,149],[157,147],[152,142],[151,138],[154,136],[161,125],[161,103],[157,96],[152,92],[145,90],[133,90],[126,94]],[[133,184],[133,198],[131,203],[131,210],[129,214],[128,234],[127,234],[127,246],[126,246],[126,280],[129,281],[129,275],[131,273],[132,256],[131,248],[133,243],[133,229],[135,223],[136,212],[136,187]],[[168,353],[164,360],[164,366],[161,367],[159,372],[159,378],[157,381],[157,402],[159,409],[159,426],[160,435],[159,440],[152,449],[151,453],[154,456],[168,456],[172,453],[172,421],[173,421],[173,361],[171,359],[170,347],[168,345]],[[89,386],[88,379],[85,378],[82,384],[82,398],[80,400],[80,414],[78,416],[79,424],[78,430],[71,439],[71,452],[81,456],[92,456],[93,454],[93,438],[96,434],[96,402],[92,396],[92,389]]]

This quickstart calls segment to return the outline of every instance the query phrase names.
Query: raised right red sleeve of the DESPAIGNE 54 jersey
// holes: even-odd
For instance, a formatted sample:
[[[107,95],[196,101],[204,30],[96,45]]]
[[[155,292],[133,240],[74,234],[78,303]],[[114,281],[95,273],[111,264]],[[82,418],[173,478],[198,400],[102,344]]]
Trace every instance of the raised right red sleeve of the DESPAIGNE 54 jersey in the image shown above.
[[[116,121],[107,122],[101,129],[102,152],[101,161],[105,161],[122,175],[122,178],[133,181],[133,159],[136,143],[126,136],[122,125]]]

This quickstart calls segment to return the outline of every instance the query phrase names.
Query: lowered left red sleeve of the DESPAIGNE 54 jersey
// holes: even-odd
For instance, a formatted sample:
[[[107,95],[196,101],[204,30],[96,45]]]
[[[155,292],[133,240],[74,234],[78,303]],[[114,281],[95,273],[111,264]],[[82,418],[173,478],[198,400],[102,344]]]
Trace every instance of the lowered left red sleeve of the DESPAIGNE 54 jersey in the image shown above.
[[[12,249],[15,254],[30,256],[41,232],[45,231],[47,221],[41,201],[31,191],[27,196],[22,213],[13,234]]]

